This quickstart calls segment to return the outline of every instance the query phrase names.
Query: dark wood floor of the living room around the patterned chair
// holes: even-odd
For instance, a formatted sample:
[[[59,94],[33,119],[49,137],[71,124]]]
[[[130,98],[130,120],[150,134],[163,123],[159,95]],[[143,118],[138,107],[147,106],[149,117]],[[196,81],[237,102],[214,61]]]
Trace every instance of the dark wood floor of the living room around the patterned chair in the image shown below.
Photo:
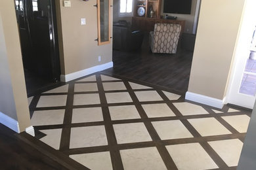
[[[192,56],[193,52],[182,50],[180,46],[177,54],[152,54],[146,34],[142,48],[137,52],[113,50],[114,67],[104,72],[185,93],[188,90]]]

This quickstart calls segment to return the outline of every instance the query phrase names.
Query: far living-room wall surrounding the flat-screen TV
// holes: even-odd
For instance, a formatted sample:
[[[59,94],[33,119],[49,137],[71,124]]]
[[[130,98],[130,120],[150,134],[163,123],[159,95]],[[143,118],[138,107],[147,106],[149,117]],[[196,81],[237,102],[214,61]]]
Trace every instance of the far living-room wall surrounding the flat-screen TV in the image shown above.
[[[161,15],[165,16],[165,14],[168,14],[169,16],[177,16],[178,20],[185,20],[185,33],[192,33],[193,27],[194,27],[194,19],[196,14],[196,3],[198,0],[192,0],[191,5],[191,14],[169,14],[169,13],[163,13],[163,4],[165,0],[162,0],[161,2]],[[168,1],[168,0],[166,0]],[[202,0],[203,1],[203,0]]]

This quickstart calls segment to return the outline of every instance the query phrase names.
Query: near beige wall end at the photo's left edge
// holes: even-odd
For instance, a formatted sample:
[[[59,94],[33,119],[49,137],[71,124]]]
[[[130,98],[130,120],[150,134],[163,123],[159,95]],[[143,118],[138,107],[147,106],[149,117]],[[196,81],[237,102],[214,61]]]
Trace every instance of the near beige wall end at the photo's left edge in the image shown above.
[[[14,118],[14,120],[18,120],[20,131],[24,131],[26,127],[30,126],[30,113],[28,110],[28,99],[14,1],[1,1],[0,15],[0,37],[3,38],[0,46],[0,58],[1,61],[5,62],[5,67],[1,68],[1,71],[6,73],[4,76],[1,75],[1,90],[7,90],[4,95],[0,95],[0,99],[8,100],[5,101],[8,106],[5,105],[5,109],[3,110],[2,107],[0,107],[0,111]],[[5,103],[1,103],[1,106]]]

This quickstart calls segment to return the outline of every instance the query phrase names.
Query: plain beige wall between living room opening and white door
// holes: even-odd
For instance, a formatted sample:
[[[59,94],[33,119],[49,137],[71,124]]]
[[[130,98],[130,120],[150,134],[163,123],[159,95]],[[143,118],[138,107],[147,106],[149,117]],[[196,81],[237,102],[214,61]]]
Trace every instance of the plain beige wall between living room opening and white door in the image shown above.
[[[245,0],[202,0],[188,92],[223,99]]]

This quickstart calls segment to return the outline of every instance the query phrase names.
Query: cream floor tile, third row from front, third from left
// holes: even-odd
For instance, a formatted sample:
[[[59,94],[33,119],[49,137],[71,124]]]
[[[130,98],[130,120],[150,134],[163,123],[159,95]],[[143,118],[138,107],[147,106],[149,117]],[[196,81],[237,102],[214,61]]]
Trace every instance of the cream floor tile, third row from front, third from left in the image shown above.
[[[111,120],[125,120],[140,118],[135,105],[108,107]]]

